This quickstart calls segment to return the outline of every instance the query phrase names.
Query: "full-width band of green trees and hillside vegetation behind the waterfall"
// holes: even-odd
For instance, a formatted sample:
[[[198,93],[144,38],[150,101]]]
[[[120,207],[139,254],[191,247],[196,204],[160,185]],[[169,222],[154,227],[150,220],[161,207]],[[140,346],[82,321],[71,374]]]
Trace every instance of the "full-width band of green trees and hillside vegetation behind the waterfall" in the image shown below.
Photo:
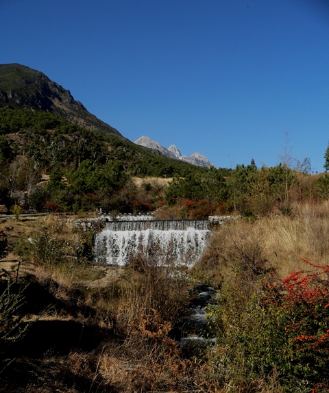
[[[286,163],[234,170],[200,168],[97,134],[48,112],[0,109],[0,204],[35,212],[143,213],[206,218],[291,214],[293,204],[325,200],[328,176]],[[301,169],[301,168],[298,168]],[[306,168],[307,169],[307,168]],[[40,183],[42,175],[50,181]],[[168,186],[132,177],[171,178]]]

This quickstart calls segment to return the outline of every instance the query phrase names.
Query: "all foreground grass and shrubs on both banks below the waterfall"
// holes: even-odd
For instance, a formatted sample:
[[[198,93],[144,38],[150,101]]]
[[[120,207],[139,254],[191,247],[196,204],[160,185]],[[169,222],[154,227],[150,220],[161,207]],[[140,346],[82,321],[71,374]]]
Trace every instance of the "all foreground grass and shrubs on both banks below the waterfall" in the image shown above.
[[[226,223],[189,279],[184,269],[159,270],[143,253],[125,268],[93,266],[92,233],[82,235],[65,217],[29,227],[13,221],[19,233],[3,223],[1,230],[11,228],[10,258],[21,264],[18,275],[16,264],[5,268],[1,282],[18,277],[8,287],[21,302],[12,320],[31,325],[2,347],[1,385],[6,392],[327,392],[328,206]],[[170,331],[195,282],[219,294],[209,309],[217,344],[186,357]]]

